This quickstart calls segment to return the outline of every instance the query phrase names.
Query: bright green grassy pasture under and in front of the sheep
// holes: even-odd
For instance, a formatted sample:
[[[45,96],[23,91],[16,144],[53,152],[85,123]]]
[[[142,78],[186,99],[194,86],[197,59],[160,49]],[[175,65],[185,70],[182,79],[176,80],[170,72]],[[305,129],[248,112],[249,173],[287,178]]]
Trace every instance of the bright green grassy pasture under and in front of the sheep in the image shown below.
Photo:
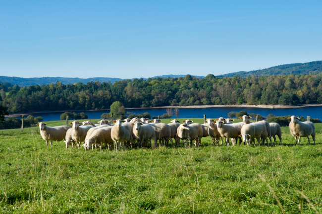
[[[214,147],[206,137],[200,148],[117,153],[62,141],[47,148],[38,127],[4,130],[0,213],[282,213],[276,198],[285,213],[322,213],[322,124],[315,126],[316,146],[305,138],[296,146],[284,127],[283,146]]]

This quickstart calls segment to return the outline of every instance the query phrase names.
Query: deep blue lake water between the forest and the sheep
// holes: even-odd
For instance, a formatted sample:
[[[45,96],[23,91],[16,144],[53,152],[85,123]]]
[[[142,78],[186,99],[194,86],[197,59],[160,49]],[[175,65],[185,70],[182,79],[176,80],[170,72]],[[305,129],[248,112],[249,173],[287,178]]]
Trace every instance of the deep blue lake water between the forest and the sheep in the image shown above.
[[[152,116],[163,115],[165,109],[131,109],[129,112],[134,112],[136,114],[142,114],[144,112],[149,112]],[[322,107],[305,107],[305,108],[289,108],[289,109],[264,109],[264,108],[254,108],[254,107],[216,107],[216,108],[182,108],[180,109],[179,118],[203,118],[204,114],[207,118],[227,118],[229,112],[239,112],[246,111],[248,114],[260,114],[262,116],[268,116],[268,114],[273,114],[275,116],[285,116],[285,115],[295,115],[295,116],[311,116],[311,118],[322,119]],[[72,112],[72,111],[70,111]],[[76,112],[80,113],[80,112]],[[103,113],[109,113],[109,111],[84,111],[88,115],[89,119],[100,119]],[[60,120],[61,113],[50,113],[50,114],[34,114],[35,117],[41,116],[44,121],[57,121]],[[21,119],[21,117],[16,117]],[[173,117],[175,118],[175,117]]]

